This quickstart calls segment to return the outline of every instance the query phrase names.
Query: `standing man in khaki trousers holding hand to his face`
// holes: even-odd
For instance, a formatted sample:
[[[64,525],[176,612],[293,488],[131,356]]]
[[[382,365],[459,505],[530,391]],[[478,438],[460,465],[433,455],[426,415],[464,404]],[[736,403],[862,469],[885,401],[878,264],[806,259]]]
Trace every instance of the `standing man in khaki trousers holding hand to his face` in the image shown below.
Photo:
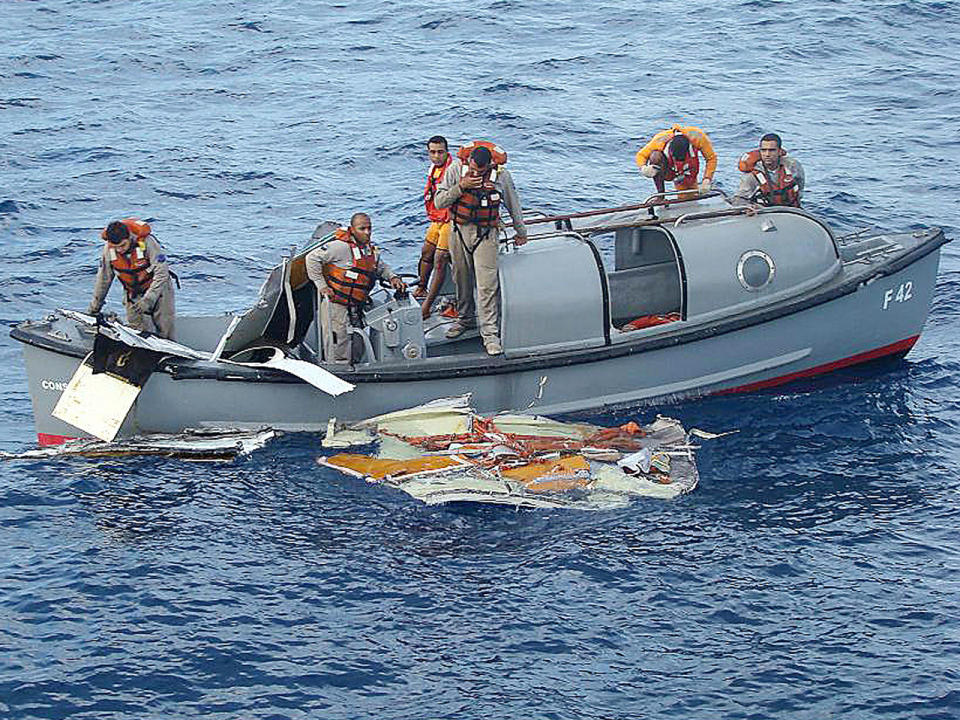
[[[520,198],[513,178],[503,167],[507,154],[493,143],[478,140],[457,151],[434,195],[438,208],[450,208],[453,233],[450,257],[453,279],[457,286],[456,323],[446,332],[448,338],[459,337],[476,325],[477,305],[480,309],[480,337],[489,355],[503,352],[500,345],[500,280],[497,275],[497,236],[501,228],[500,205],[506,205],[513,219],[514,242],[527,241]]]

